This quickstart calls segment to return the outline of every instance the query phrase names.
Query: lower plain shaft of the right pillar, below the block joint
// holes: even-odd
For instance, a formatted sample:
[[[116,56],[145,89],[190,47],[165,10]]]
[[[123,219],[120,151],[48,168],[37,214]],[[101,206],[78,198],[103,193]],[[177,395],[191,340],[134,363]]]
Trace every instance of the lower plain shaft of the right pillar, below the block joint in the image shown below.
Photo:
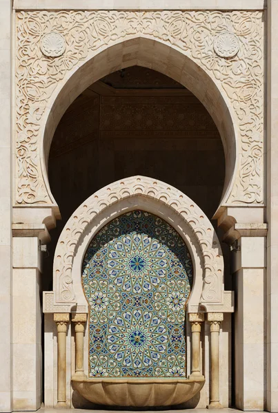
[[[234,275],[235,391],[237,407],[243,410],[264,409],[264,274],[264,268],[241,268]]]

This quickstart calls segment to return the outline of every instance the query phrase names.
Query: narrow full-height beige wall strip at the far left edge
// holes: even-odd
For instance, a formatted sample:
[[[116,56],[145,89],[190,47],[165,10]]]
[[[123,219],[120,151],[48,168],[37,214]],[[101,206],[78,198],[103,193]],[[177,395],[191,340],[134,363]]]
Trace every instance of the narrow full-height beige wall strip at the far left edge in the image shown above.
[[[10,0],[0,3],[0,412],[12,408],[11,7]]]

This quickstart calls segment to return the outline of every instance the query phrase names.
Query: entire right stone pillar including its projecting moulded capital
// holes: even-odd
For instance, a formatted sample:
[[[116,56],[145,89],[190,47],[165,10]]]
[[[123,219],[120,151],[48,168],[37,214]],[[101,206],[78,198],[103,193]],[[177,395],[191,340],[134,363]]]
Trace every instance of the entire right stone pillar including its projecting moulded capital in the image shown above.
[[[228,207],[218,217],[218,224],[225,231],[224,241],[230,244],[230,272],[236,292],[235,407],[240,410],[264,410],[266,399],[264,317],[268,226],[264,215],[261,207]]]

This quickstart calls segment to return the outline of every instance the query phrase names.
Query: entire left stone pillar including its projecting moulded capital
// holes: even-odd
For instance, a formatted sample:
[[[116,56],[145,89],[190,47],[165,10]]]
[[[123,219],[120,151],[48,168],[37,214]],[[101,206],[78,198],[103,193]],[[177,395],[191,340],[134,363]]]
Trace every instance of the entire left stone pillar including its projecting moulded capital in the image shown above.
[[[54,213],[51,207],[26,206],[13,207],[12,215],[12,410],[35,411],[43,392],[41,244],[50,240]]]

